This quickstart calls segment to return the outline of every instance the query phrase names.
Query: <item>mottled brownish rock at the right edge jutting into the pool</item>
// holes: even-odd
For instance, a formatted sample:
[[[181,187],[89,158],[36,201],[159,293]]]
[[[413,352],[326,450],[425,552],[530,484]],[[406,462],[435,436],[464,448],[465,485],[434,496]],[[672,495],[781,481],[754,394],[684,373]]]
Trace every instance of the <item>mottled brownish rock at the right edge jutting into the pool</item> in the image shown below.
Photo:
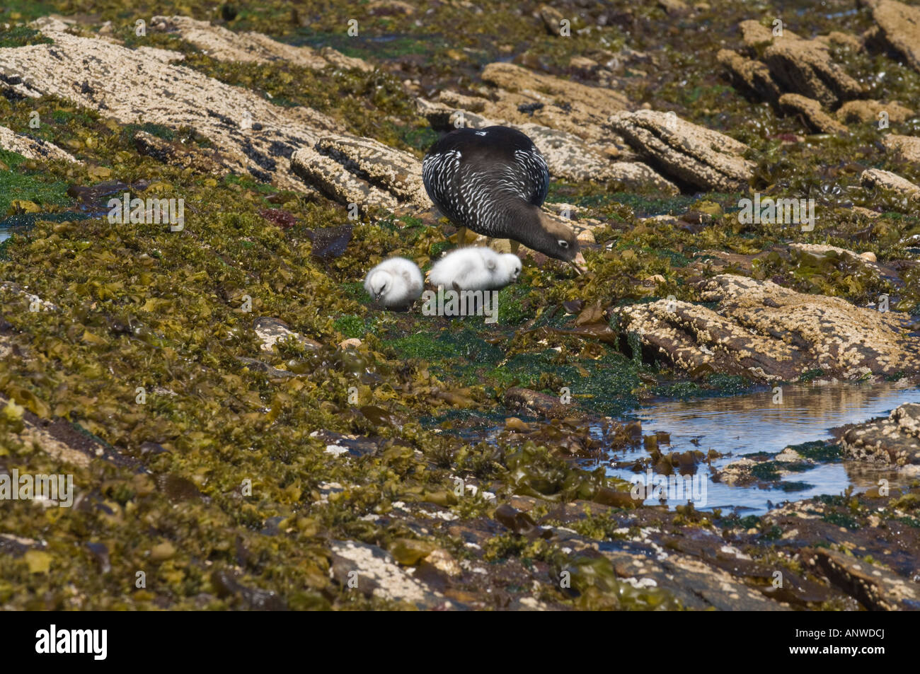
[[[888,417],[849,428],[841,438],[841,446],[851,459],[920,475],[920,405],[906,403]]]

